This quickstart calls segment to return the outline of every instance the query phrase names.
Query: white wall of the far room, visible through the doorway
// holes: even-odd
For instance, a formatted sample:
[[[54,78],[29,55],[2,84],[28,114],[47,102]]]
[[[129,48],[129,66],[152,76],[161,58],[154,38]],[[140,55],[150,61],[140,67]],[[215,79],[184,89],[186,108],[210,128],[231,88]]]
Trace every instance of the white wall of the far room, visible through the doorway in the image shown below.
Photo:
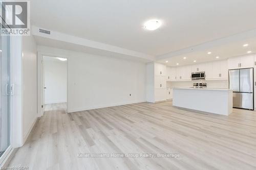
[[[44,56],[45,104],[67,102],[67,61]]]

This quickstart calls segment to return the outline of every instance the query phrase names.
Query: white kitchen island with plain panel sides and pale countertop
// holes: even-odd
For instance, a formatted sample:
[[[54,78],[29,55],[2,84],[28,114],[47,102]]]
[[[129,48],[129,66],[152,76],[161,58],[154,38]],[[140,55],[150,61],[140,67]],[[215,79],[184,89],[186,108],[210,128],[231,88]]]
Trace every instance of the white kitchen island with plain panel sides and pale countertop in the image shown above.
[[[229,115],[233,93],[222,88],[173,88],[173,106],[193,111]]]

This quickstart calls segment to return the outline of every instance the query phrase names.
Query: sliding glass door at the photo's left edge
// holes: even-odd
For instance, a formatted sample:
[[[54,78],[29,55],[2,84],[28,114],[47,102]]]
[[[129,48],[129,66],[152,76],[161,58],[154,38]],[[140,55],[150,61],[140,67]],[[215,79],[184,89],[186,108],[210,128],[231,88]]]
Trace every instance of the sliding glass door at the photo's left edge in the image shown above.
[[[3,26],[1,25],[0,31]],[[10,36],[0,35],[0,164],[11,144],[11,56]]]

